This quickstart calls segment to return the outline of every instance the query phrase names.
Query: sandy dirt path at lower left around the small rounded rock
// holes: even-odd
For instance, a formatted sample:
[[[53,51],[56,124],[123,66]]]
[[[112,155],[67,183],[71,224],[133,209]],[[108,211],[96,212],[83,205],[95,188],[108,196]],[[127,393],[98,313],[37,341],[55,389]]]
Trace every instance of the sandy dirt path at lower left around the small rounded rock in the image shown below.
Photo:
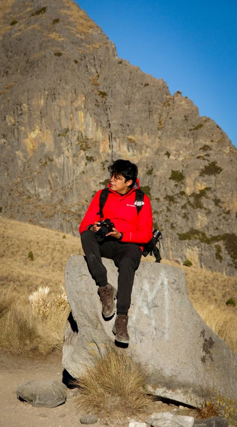
[[[16,388],[27,381],[62,379],[62,354],[43,358],[17,357],[0,352],[0,426],[1,427],[78,427],[79,417],[68,400],[56,408],[33,408],[16,398]]]

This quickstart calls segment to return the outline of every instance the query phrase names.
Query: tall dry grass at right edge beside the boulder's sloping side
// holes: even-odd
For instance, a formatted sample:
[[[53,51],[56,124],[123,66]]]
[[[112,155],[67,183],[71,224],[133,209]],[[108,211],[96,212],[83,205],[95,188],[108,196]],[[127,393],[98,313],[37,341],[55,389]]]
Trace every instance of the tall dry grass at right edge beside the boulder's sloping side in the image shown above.
[[[194,304],[195,310],[214,332],[237,353],[237,312],[207,304]]]

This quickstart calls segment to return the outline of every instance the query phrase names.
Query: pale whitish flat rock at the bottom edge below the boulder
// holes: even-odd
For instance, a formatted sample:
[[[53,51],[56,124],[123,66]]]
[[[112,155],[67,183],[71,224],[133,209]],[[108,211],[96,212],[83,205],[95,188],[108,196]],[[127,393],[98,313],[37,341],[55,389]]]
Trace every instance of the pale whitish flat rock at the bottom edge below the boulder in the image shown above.
[[[152,414],[146,420],[152,427],[193,427],[194,418],[186,415],[175,415],[172,412]]]

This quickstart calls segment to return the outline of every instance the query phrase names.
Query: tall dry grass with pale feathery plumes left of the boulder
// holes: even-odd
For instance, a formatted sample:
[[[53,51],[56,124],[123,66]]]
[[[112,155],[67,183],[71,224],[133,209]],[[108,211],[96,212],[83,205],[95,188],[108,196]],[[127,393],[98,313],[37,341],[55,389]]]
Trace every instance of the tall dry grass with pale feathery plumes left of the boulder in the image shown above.
[[[0,297],[0,347],[30,355],[33,350],[45,355],[63,344],[63,328],[70,307],[61,292],[48,300],[49,289],[39,289],[29,296]]]

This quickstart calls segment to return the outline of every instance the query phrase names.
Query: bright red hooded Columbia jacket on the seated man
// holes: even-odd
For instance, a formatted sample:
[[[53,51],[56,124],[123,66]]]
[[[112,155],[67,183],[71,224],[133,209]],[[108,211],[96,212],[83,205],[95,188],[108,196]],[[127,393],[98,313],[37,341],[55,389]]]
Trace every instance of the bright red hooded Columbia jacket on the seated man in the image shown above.
[[[110,188],[110,184],[108,185]],[[136,188],[134,188],[136,187]],[[116,191],[109,191],[109,196],[103,209],[103,219],[110,218],[115,224],[115,228],[123,233],[122,242],[139,243],[142,250],[143,244],[148,243],[152,238],[152,211],[151,204],[144,195],[144,205],[137,215],[135,202],[135,190],[139,188],[139,181],[126,194],[121,195]],[[82,234],[90,224],[100,221],[99,200],[102,190],[99,190],[80,224],[79,232]]]

